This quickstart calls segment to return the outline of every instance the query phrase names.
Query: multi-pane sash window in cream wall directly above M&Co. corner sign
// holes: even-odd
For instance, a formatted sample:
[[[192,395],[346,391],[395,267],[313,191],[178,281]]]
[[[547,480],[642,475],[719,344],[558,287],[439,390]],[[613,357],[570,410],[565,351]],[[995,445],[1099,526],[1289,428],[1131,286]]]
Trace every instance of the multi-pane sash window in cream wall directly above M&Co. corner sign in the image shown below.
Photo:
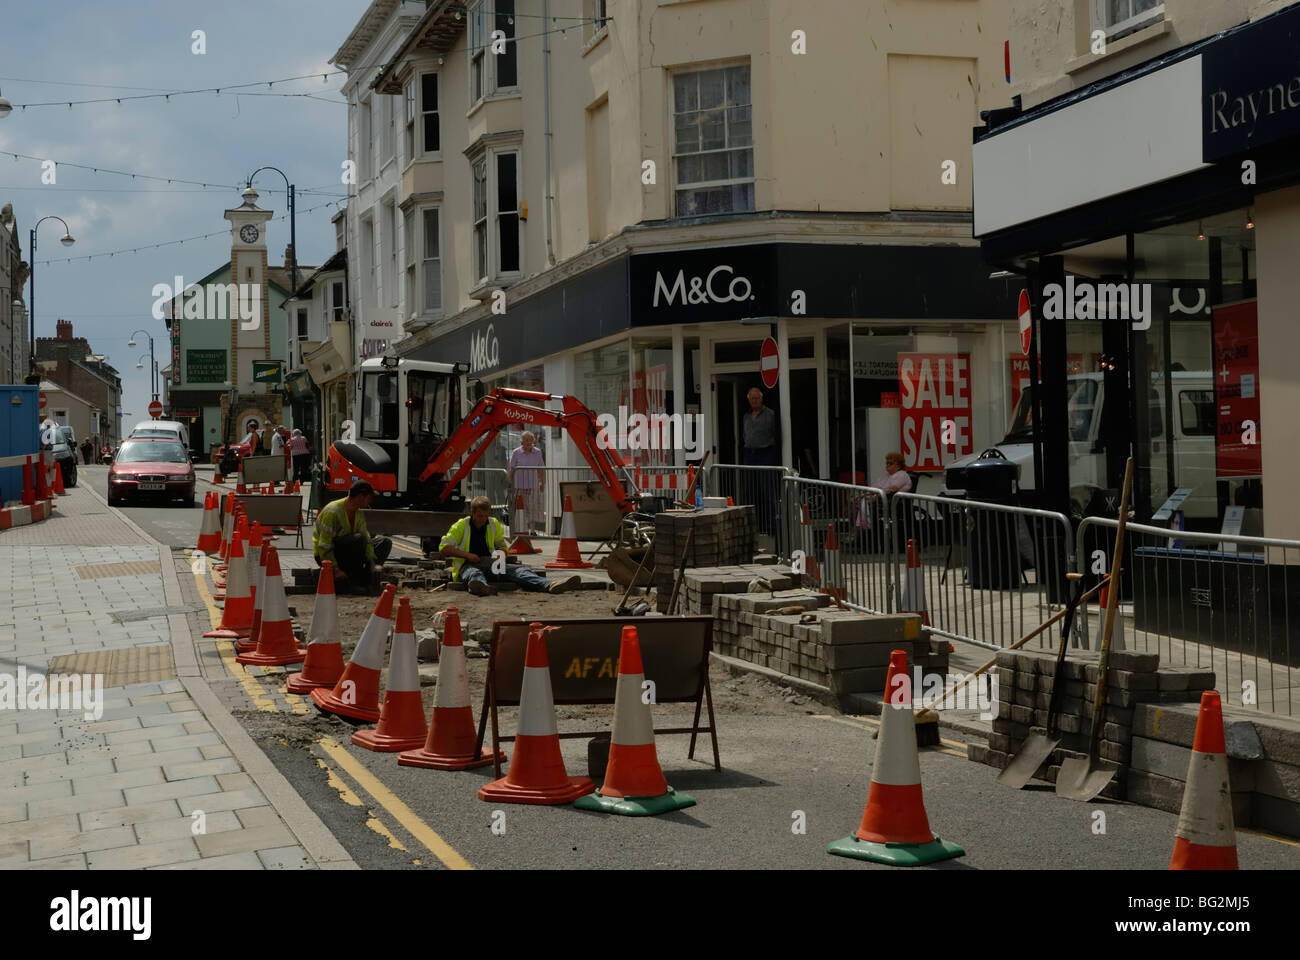
[[[673,77],[676,216],[754,211],[749,64]]]

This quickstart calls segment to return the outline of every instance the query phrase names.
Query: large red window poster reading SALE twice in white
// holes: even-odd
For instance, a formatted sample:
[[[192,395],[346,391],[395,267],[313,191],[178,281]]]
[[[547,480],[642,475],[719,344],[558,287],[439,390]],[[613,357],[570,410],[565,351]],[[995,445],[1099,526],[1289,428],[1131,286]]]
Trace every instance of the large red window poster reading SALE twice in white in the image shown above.
[[[907,470],[942,470],[974,453],[970,354],[898,354],[900,433]]]

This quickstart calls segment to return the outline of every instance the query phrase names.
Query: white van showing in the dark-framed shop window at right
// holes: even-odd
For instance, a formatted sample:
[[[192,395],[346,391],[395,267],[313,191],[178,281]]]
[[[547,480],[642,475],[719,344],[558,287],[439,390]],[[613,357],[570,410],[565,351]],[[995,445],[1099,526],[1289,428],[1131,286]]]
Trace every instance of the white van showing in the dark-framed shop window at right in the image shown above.
[[[1153,467],[1153,497],[1161,502],[1174,492],[1174,487],[1190,487],[1192,494],[1183,503],[1187,516],[1217,518],[1218,489],[1214,471],[1214,377],[1209,371],[1175,371],[1170,375],[1173,395],[1173,424],[1166,424],[1164,384],[1154,381],[1148,395],[1148,424],[1152,437],[1149,460]],[[1101,408],[1105,403],[1105,381],[1101,373],[1074,373],[1066,377],[1067,416],[1070,424],[1070,510],[1083,516],[1097,489],[1106,484],[1106,453],[1098,444],[1101,434]],[[1032,386],[1020,394],[1020,402],[1011,418],[1011,427],[996,445],[1006,459],[1019,467],[1022,490],[1035,489],[1034,479],[1034,427]],[[1169,454],[1165,449],[1166,429],[1173,427],[1173,484],[1165,489]],[[945,492],[961,493],[965,468],[979,458],[963,457],[950,463],[945,473]]]

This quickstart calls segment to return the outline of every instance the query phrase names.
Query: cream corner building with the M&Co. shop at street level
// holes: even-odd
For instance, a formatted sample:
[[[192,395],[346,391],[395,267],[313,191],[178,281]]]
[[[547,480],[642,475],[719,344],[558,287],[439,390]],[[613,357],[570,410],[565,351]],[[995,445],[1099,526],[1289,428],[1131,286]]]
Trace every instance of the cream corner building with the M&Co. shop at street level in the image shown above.
[[[350,38],[386,56],[335,57],[350,139],[369,99],[399,156],[399,238],[382,160],[348,208],[377,211],[377,259],[350,276],[398,304],[395,353],[469,360],[484,389],[698,415],[715,462],[831,479],[905,447],[937,484],[1001,438],[1019,287],[971,237],[971,130],[1005,101],[1005,0],[436,1],[393,44],[400,16],[377,0]],[[746,451],[767,336],[783,429]],[[946,371],[945,414],[901,407],[916,355]],[[920,442],[941,416],[953,442]]]

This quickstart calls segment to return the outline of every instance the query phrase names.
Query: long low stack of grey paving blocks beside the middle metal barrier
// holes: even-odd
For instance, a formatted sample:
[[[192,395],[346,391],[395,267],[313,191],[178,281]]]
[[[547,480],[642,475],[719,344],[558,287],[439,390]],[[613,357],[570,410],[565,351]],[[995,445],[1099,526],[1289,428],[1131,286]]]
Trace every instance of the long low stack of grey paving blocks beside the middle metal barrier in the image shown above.
[[[883,693],[893,650],[907,653],[909,669],[922,674],[948,673],[948,644],[922,635],[916,614],[871,615],[831,607],[822,593],[801,591],[772,597],[767,593],[715,593],[714,649],[724,656],[829,691],[831,702],[852,705],[854,693]],[[805,614],[779,614],[798,605],[815,623],[800,623]]]

